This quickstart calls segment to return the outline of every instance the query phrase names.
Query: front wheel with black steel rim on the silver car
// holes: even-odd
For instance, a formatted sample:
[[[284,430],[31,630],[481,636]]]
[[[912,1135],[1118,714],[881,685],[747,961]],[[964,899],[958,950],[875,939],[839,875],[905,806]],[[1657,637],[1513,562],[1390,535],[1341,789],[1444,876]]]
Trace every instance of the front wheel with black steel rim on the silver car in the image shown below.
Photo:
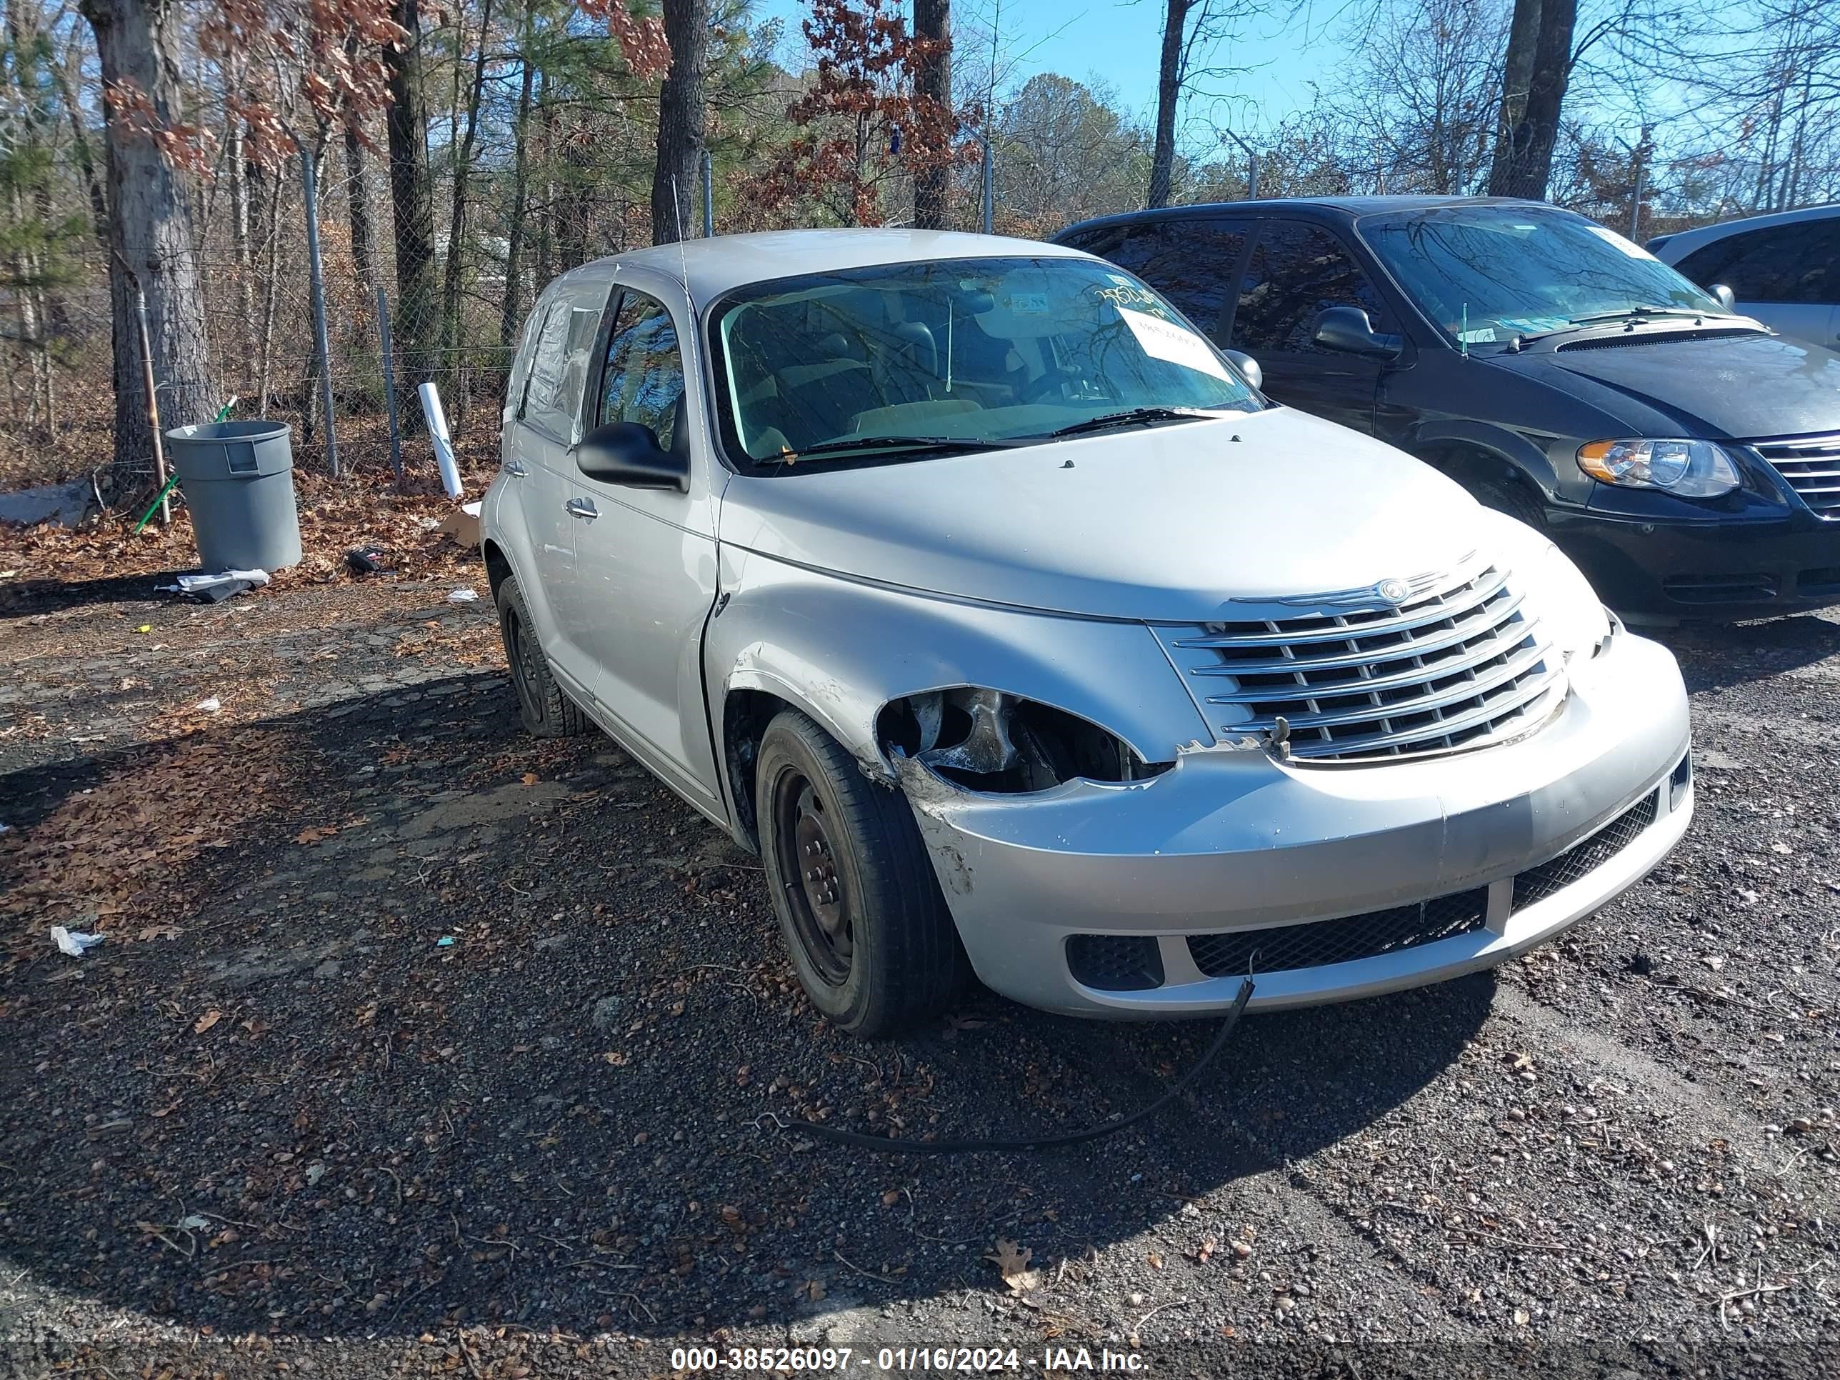
[[[754,808],[773,913],[811,1005],[865,1038],[944,1012],[959,933],[907,799],[782,710],[760,740]]]

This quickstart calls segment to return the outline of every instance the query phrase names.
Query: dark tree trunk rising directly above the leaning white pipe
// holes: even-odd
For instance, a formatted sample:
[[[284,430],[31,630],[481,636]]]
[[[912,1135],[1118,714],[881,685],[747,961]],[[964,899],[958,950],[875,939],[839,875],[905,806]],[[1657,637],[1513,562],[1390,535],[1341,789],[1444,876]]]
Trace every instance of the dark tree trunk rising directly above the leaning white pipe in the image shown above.
[[[421,101],[421,17],[418,0],[392,0],[390,18],[408,29],[401,48],[383,50],[390,75],[390,202],[396,215],[397,361],[408,388],[434,377],[432,335],[440,326],[434,276],[434,193],[429,186],[427,118]],[[414,416],[414,408],[408,410]]]

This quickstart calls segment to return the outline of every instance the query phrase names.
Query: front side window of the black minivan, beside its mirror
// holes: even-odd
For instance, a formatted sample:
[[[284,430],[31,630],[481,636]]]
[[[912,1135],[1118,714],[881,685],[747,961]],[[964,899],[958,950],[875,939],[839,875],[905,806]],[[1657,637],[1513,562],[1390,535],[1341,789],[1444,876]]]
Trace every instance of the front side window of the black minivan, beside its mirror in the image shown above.
[[[1387,329],[1380,293],[1340,239],[1314,224],[1266,223],[1240,283],[1233,348],[1325,353],[1310,340],[1316,313],[1323,307],[1362,307],[1374,329]]]

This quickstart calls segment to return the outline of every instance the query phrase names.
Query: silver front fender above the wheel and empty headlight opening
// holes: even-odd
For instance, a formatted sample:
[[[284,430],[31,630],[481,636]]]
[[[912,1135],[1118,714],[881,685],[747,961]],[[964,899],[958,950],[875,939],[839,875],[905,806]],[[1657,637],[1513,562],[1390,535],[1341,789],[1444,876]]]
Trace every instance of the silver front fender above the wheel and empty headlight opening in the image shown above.
[[[1205,719],[1144,624],[1019,613],[804,570],[723,548],[732,591],[705,638],[718,747],[734,690],[797,707],[872,778],[894,784],[876,740],[891,699],[972,684],[1076,714],[1144,762],[1211,743]]]

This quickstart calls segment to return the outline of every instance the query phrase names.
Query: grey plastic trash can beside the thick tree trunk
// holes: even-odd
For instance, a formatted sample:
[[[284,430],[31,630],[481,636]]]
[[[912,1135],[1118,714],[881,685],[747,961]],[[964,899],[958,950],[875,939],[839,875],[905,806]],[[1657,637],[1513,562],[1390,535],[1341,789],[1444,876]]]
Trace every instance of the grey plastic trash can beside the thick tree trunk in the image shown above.
[[[206,421],[166,432],[191,510],[199,565],[280,570],[300,563],[294,449],[285,421]]]

